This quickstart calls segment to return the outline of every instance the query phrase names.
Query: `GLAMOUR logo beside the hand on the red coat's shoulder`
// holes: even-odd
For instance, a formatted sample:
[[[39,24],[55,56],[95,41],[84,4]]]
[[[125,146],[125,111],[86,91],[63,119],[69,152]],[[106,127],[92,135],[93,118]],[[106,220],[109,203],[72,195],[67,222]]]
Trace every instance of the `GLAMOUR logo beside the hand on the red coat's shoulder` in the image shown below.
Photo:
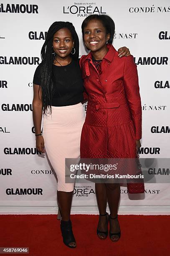
[[[134,63],[137,65],[167,65],[168,57],[134,57]]]

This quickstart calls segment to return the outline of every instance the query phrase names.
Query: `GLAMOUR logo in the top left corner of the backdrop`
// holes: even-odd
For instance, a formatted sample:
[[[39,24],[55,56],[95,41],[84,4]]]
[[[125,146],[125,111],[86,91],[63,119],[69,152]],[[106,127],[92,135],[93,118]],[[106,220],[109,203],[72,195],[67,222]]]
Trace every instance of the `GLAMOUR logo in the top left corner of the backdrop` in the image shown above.
[[[38,5],[0,4],[0,13],[38,13]]]

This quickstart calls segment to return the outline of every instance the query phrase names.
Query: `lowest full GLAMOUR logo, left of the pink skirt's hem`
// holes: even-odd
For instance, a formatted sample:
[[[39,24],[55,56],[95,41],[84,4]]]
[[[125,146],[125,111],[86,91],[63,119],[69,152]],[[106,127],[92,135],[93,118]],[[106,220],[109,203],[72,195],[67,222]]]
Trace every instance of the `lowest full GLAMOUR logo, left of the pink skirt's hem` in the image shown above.
[[[7,195],[43,195],[42,188],[8,188]]]

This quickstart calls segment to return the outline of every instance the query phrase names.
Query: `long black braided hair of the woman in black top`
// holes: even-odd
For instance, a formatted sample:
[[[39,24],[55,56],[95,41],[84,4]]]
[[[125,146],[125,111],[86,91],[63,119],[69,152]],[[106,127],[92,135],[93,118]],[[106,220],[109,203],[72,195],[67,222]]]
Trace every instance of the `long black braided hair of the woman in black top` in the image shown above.
[[[68,28],[74,40],[75,54],[72,55],[74,60],[79,58],[79,38],[76,30],[72,23],[64,21],[54,22],[48,29],[46,40],[41,49],[41,91],[42,91],[42,103],[43,103],[43,113],[46,114],[47,108],[50,109],[51,113],[51,102],[53,97],[53,80],[52,80],[52,67],[53,61],[55,59],[55,54],[53,54],[53,35],[61,28]],[[40,90],[40,88],[39,88]]]

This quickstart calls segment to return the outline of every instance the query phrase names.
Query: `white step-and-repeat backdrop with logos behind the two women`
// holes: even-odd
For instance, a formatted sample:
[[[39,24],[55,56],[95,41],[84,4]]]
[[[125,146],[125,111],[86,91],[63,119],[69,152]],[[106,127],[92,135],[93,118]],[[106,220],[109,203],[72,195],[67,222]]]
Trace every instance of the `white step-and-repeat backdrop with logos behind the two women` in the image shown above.
[[[148,0],[8,0],[0,3],[0,205],[56,206],[56,178],[36,151],[32,120],[33,74],[49,26],[71,21],[86,54],[81,23],[108,14],[116,26],[113,45],[127,46],[137,64],[142,98],[140,157],[169,158],[170,2]],[[162,174],[164,175],[164,174]],[[121,190],[121,206],[168,206],[169,184],[145,184],[144,195]],[[76,184],[74,206],[95,206],[94,184]]]

